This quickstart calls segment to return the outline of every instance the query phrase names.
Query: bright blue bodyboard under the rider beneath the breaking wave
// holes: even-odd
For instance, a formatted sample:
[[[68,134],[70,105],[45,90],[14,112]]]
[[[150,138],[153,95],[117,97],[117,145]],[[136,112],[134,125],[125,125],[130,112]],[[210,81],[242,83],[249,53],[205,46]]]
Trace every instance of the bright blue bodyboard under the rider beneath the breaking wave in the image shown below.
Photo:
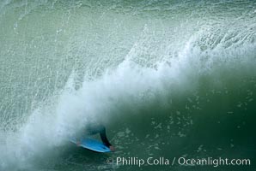
[[[77,144],[76,139],[70,139],[70,142],[76,144],[77,146],[81,146],[88,150],[93,150],[96,152],[110,152],[111,150],[103,143],[96,139],[81,139],[80,143]]]

